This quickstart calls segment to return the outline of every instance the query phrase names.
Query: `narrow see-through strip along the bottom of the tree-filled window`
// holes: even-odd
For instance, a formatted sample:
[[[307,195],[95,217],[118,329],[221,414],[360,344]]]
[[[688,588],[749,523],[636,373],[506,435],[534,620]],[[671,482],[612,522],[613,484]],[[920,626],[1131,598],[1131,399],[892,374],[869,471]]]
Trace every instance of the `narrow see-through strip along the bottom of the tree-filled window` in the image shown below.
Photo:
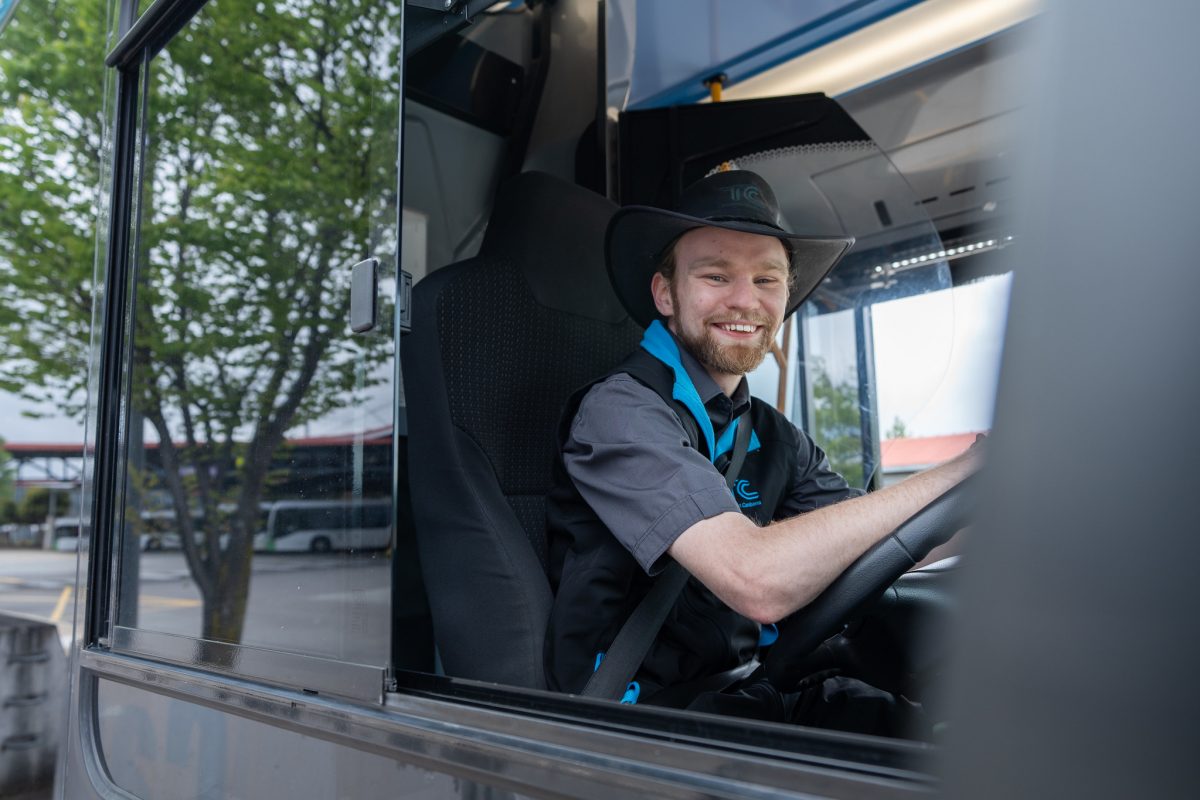
[[[113,650],[162,658],[185,667],[217,669],[234,678],[266,681],[298,691],[368,703],[383,699],[383,667],[121,626],[113,628]]]

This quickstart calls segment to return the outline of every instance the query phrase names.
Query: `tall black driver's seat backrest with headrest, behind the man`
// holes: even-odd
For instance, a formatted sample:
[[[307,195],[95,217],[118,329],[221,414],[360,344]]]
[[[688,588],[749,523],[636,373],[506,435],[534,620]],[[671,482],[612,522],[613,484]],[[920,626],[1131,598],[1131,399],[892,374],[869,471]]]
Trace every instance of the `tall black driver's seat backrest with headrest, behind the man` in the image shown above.
[[[550,175],[517,175],[497,193],[479,255],[413,289],[409,486],[448,675],[545,686],[558,416],[641,336],[605,271],[614,211]]]

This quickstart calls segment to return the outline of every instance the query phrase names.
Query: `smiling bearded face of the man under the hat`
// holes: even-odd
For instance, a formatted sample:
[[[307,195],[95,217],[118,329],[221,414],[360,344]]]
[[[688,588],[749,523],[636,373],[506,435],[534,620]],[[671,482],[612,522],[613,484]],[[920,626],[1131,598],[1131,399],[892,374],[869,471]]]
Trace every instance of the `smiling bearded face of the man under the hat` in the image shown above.
[[[770,350],[787,308],[787,253],[774,236],[697,228],[674,246],[674,277],[655,273],[654,305],[667,327],[720,381]]]

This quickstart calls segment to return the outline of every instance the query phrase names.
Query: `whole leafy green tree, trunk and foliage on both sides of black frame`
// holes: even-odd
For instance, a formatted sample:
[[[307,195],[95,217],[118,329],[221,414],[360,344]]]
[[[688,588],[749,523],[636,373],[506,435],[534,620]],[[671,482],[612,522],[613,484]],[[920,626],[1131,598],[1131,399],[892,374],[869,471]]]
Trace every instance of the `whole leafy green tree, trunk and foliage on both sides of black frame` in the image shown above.
[[[71,84],[96,83],[102,28],[78,20],[98,18],[100,5],[52,4],[44,24],[18,14],[4,40],[22,25],[0,95],[22,118],[6,118],[0,146],[28,179],[24,191],[0,190],[0,219],[5,230],[38,223],[0,239],[20,297],[0,318],[0,343],[23,348],[5,386],[24,392],[80,395],[90,311],[80,265],[91,263],[88,190],[102,128],[98,86]],[[390,353],[390,337],[348,336],[347,306],[349,265],[395,251],[398,13],[367,0],[278,11],[218,0],[150,65],[128,481],[134,500],[170,499],[206,639],[241,639],[259,501],[286,432],[350,402]],[[31,261],[62,269],[25,276]],[[38,317],[42,327],[19,330]],[[58,336],[71,339],[70,368],[38,357],[60,325],[72,332]]]

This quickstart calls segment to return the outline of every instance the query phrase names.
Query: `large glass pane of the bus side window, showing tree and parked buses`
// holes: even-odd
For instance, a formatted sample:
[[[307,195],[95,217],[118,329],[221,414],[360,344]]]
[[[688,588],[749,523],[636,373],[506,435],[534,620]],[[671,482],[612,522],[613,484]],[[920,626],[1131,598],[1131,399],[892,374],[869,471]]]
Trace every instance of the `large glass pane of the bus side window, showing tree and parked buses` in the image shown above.
[[[386,660],[398,14],[215,0],[148,66],[121,625]]]

